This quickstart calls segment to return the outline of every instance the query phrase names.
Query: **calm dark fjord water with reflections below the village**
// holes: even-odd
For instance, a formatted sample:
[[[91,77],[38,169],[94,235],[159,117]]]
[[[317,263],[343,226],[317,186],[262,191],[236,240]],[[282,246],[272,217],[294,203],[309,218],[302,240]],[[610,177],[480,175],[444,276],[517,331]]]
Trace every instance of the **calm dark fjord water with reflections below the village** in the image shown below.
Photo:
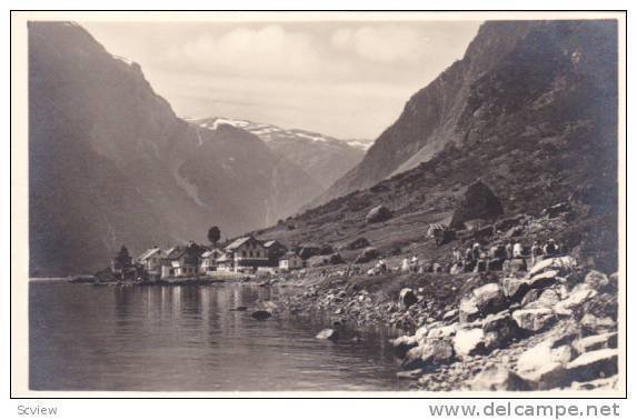
[[[386,332],[325,342],[327,320],[255,308],[279,290],[243,284],[30,283],[30,388],[119,391],[399,390]],[[362,340],[351,340],[360,337]]]

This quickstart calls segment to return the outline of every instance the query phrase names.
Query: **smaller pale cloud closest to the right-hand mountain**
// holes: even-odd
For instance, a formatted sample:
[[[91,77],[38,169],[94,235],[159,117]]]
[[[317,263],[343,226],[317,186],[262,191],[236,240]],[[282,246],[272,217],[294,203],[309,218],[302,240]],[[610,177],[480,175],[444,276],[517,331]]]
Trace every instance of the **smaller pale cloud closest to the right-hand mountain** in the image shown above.
[[[417,62],[429,41],[419,31],[398,26],[341,28],[331,36],[335,48],[381,62]]]

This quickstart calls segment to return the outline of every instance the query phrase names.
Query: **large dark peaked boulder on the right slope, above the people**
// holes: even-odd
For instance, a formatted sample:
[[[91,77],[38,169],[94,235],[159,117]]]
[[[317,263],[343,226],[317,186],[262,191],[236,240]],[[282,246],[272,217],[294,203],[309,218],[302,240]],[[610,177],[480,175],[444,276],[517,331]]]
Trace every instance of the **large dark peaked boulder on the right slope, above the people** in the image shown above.
[[[504,213],[502,203],[481,180],[467,187],[462,200],[454,210],[451,229],[464,229],[465,222],[476,219],[495,219]]]

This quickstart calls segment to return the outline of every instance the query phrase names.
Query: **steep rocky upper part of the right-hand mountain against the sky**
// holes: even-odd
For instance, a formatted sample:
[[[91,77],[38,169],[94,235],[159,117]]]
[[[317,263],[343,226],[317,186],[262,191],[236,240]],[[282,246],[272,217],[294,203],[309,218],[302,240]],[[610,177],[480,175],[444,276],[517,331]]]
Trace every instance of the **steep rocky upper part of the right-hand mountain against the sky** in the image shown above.
[[[504,140],[498,137],[533,141],[528,138],[547,136],[545,118],[576,123],[581,117],[569,114],[569,109],[595,112],[605,108],[614,87],[605,82],[608,73],[595,70],[603,64],[600,58],[616,59],[614,47],[607,41],[587,42],[613,37],[611,21],[484,23],[464,58],[414,94],[365,159],[315,204],[414,169],[447,146],[466,148],[476,141]],[[576,91],[583,97],[576,98]],[[604,96],[595,97],[598,91]],[[593,99],[593,103],[576,103]],[[509,120],[519,124],[505,132],[501,128],[510,127]],[[486,127],[487,121],[495,126]]]

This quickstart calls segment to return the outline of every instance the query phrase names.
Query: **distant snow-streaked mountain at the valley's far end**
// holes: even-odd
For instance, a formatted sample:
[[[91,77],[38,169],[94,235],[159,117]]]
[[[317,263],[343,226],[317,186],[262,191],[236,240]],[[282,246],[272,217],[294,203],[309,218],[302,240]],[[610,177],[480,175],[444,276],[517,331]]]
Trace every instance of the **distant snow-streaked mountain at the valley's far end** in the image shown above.
[[[360,162],[371,146],[365,140],[339,140],[311,131],[286,130],[247,120],[203,118],[189,121],[208,129],[229,124],[251,132],[277,154],[302,168],[324,190]]]

